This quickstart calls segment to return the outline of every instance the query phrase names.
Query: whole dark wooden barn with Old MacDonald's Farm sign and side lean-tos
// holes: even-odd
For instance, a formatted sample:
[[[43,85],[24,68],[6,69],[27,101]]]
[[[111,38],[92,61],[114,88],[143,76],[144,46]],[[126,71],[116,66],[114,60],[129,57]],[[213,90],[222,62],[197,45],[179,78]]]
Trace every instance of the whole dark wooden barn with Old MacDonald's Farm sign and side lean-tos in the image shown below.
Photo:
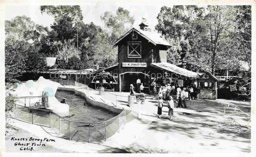
[[[195,72],[167,63],[167,48],[171,45],[150,31],[146,23],[129,30],[113,46],[118,47],[117,63],[87,74],[91,75],[86,77],[91,78],[86,81],[89,86],[123,92],[129,91],[130,84],[136,87],[140,79],[144,92],[149,93],[154,82],[158,87],[167,83],[187,86],[197,77]]]

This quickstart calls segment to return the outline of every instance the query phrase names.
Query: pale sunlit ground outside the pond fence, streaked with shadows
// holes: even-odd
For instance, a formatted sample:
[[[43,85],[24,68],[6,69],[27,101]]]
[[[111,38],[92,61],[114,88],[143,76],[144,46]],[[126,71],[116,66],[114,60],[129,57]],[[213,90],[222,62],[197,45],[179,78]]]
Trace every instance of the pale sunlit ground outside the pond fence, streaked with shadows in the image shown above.
[[[126,93],[123,93],[126,94]],[[5,138],[7,152],[20,152],[11,137],[52,138],[33,152],[69,153],[239,153],[251,152],[251,132],[246,128],[228,126],[228,118],[247,124],[248,118],[233,109],[223,111],[223,103],[231,102],[251,114],[249,102],[232,100],[186,101],[187,108],[174,108],[173,121],[169,121],[168,108],[163,108],[162,118],[157,117],[157,100],[147,96],[140,105],[140,118],[128,122],[119,133],[106,141],[76,142],[50,136],[41,126],[11,120],[18,131]],[[167,105],[167,101],[165,102]],[[177,103],[174,102],[174,106]],[[241,129],[241,131],[240,131]],[[26,151],[29,152],[29,151]]]

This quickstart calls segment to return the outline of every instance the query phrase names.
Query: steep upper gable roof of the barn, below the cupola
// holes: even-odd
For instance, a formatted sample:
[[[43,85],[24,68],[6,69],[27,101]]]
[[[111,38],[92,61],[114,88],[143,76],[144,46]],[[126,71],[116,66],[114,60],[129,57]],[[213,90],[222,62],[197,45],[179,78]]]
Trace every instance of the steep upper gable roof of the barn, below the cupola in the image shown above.
[[[124,39],[124,37],[126,37],[129,33],[131,33],[132,31],[137,32],[139,35],[143,36],[144,38],[146,38],[148,41],[150,41],[151,43],[153,43],[154,45],[165,45],[165,46],[171,46],[166,40],[162,39],[158,33],[156,32],[150,32],[150,31],[144,31],[142,29],[135,29],[132,28],[130,31],[128,31],[127,33],[125,33],[125,35],[123,35],[120,39],[118,39],[113,46],[116,46],[117,43],[119,43],[119,41],[121,41],[122,39]]]

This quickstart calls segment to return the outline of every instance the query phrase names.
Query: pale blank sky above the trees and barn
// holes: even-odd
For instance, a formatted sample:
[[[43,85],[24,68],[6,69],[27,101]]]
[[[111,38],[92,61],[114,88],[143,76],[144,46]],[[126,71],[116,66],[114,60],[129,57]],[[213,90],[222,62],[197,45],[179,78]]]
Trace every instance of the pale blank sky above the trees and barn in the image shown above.
[[[138,27],[143,17],[147,19],[149,27],[154,30],[154,27],[157,24],[157,15],[160,12],[161,7],[165,4],[168,7],[172,7],[171,3],[165,2],[159,4],[155,1],[150,1],[147,3],[136,1],[134,3],[129,1],[123,1],[122,3],[117,1],[92,1],[90,3],[80,4],[80,8],[82,10],[84,23],[93,22],[94,24],[103,27],[104,24],[102,23],[100,16],[105,11],[110,11],[114,13],[116,12],[118,7],[123,7],[124,9],[127,9],[130,12],[130,15],[135,18],[135,23],[133,27]],[[47,15],[46,13],[41,14],[39,7],[40,4],[38,3],[8,4],[5,5],[4,17],[5,20],[11,20],[16,16],[25,15],[30,17],[31,20],[33,20],[37,24],[50,27],[50,24],[52,24],[54,21],[53,17]]]

